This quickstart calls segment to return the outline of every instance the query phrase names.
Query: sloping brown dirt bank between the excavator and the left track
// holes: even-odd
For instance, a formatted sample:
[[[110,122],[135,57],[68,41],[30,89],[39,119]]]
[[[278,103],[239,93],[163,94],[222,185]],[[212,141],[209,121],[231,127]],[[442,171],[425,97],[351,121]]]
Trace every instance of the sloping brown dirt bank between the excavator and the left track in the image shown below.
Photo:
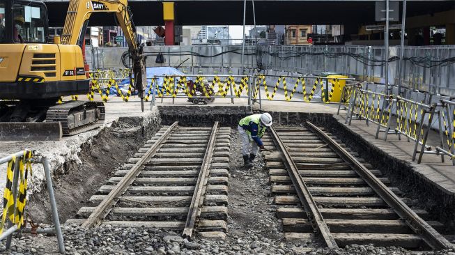
[[[105,127],[90,141],[82,144],[76,157],[82,164],[72,160],[54,169],[54,193],[61,222],[74,217],[77,210],[88,203],[88,199],[98,187],[112,176],[114,170],[155,134],[159,125],[159,118],[145,123],[141,117],[119,118],[110,127]],[[31,194],[27,210],[33,222],[52,222],[46,189]]]

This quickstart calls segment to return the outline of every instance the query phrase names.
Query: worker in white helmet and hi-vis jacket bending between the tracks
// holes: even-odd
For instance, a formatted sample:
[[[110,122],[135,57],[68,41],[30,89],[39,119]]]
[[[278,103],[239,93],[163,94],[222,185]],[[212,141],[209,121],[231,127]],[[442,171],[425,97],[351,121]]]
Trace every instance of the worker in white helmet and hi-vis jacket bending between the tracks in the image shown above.
[[[246,168],[253,167],[253,160],[259,148],[265,150],[261,137],[270,125],[272,125],[272,116],[268,113],[246,116],[238,123],[238,132],[242,139],[243,163]],[[251,153],[249,151],[250,144],[252,144]]]

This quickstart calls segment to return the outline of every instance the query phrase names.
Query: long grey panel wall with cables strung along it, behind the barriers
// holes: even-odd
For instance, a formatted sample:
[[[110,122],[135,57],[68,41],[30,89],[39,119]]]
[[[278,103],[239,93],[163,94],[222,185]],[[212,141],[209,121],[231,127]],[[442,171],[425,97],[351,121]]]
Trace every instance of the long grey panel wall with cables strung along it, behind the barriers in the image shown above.
[[[87,62],[91,68],[123,68],[121,54],[125,47],[88,47]],[[384,84],[384,48],[371,46],[254,46],[245,47],[242,63],[241,45],[194,45],[145,47],[147,66],[179,66],[187,68],[261,68],[286,70],[307,75],[337,72],[362,81]],[[155,63],[157,54],[164,55],[165,63]],[[403,86],[455,96],[455,46],[405,47],[403,75],[398,73],[398,47],[390,47],[389,81],[398,80]],[[213,73],[213,72],[209,72]]]

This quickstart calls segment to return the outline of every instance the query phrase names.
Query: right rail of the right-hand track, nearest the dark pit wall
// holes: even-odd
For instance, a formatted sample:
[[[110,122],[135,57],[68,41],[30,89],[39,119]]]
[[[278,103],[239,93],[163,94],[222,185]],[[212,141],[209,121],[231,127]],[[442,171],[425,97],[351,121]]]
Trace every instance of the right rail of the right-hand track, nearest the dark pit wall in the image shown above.
[[[396,212],[401,219],[414,231],[421,235],[422,239],[432,249],[449,249],[454,247],[447,239],[445,239],[438,231],[435,231],[432,226],[426,223],[419,217],[406,203],[399,199],[389,187],[384,185],[376,176],[371,173],[363,164],[361,164],[353,155],[350,155],[347,150],[341,147],[332,137],[316,127],[313,123],[307,121],[307,127],[321,137],[323,141],[329,144],[330,148],[341,157],[344,161],[351,164],[353,170],[380,196],[381,199]]]

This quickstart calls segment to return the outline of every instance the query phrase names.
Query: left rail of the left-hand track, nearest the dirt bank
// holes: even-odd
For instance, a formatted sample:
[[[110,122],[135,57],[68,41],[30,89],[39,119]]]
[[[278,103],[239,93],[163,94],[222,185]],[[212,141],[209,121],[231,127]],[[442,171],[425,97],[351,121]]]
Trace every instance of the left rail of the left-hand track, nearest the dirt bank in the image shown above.
[[[141,170],[144,169],[144,164],[146,164],[148,160],[150,160],[153,155],[155,155],[157,150],[160,148],[160,145],[163,143],[163,141],[167,140],[177,125],[178,121],[174,122],[164,132],[164,134],[162,134],[161,137],[155,141],[155,144],[153,144],[153,146],[147,150],[141,159],[136,164],[134,164],[130,171],[128,171],[125,177],[123,177],[122,180],[117,183],[117,185],[114,187],[114,189],[111,190],[111,192],[109,192],[105,199],[102,199],[101,203],[95,208],[95,210],[93,210],[91,215],[84,221],[84,223],[82,223],[83,227],[91,228],[93,226],[98,226],[101,219],[106,217],[106,215],[110,212],[112,206],[115,205],[115,200],[118,195],[122,194],[126,189],[128,189],[128,187],[134,181],[134,178],[136,178]]]

